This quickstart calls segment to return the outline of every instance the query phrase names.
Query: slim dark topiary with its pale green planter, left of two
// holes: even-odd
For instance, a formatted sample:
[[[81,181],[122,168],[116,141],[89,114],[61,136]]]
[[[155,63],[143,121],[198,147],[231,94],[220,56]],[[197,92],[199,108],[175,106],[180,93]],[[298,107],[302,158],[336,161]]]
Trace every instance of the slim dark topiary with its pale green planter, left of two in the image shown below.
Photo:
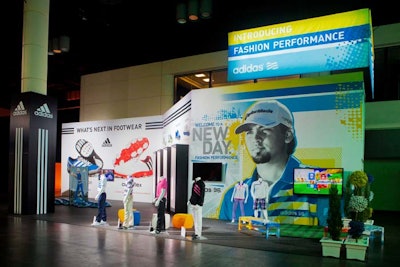
[[[329,188],[329,209],[326,221],[329,237],[323,237],[320,240],[322,256],[340,258],[340,250],[343,244],[343,240],[340,238],[343,228],[340,199],[341,197],[338,193],[337,185],[332,184]]]

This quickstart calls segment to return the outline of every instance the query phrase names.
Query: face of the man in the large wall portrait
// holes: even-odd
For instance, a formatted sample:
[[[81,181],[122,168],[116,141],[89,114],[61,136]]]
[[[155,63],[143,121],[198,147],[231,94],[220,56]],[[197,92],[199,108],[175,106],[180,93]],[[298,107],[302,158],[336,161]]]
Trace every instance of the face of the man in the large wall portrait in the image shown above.
[[[252,125],[245,133],[246,146],[255,163],[266,163],[284,151],[284,137],[279,127]]]

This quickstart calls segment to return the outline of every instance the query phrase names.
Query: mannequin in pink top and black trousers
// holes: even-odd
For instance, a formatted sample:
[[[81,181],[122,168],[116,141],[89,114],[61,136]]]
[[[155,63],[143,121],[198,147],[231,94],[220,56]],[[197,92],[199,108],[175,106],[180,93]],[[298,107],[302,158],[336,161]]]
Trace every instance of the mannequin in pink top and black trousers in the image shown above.
[[[156,229],[152,230],[152,234],[159,234],[165,231],[165,204],[167,203],[167,178],[160,177],[157,184],[156,198],[153,203],[157,207],[157,225]]]

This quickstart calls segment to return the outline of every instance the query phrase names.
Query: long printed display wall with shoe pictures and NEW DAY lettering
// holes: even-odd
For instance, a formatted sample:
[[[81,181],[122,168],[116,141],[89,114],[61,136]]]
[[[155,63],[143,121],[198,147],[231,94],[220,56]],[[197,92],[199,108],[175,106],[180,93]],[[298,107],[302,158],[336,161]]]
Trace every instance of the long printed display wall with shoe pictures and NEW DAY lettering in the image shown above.
[[[274,101],[279,104],[260,104],[261,108],[252,110],[256,103]],[[187,144],[189,159],[184,195],[190,196],[194,176],[203,176],[206,183],[203,216],[231,220],[234,186],[244,181],[250,192],[258,178],[251,178],[256,163],[245,142],[247,132],[238,131],[238,126],[243,122],[264,126],[282,123],[291,126],[297,142],[293,153],[289,153],[290,160],[278,175],[280,185],[270,185],[269,219],[281,223],[324,224],[327,197],[295,194],[293,169],[343,168],[345,177],[363,169],[364,105],[363,74],[354,72],[194,90],[160,116],[65,123],[62,126],[62,193],[74,190],[71,185],[75,176],[71,173],[75,166],[86,164],[89,198],[96,195],[97,172],[101,169],[113,173],[107,188],[108,199],[122,199],[122,183],[131,175],[135,178],[134,201],[150,203],[157,179],[163,175],[157,170],[160,164],[157,151]],[[264,108],[266,111],[262,112],[270,114],[257,114]],[[246,114],[250,121],[245,121]],[[252,202],[249,194],[246,214],[242,215],[254,214]]]

